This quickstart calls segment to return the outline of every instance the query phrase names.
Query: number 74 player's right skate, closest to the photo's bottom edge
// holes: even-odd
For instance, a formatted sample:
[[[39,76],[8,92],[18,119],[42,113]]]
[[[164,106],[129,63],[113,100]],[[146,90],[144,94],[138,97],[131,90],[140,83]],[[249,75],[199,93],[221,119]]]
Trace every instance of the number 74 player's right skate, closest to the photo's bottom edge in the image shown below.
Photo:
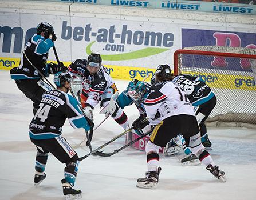
[[[66,179],[62,179],[61,183],[63,187],[63,194],[65,195],[66,200],[82,198],[82,191],[73,189],[70,183],[66,181]]]

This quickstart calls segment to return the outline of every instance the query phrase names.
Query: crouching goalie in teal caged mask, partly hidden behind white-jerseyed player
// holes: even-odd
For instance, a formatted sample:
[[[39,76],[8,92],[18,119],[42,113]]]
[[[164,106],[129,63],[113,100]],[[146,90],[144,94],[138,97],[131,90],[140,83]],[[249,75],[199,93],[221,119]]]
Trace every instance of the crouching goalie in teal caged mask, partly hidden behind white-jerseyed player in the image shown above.
[[[102,110],[103,113],[105,113],[106,116],[115,116],[119,108],[124,109],[124,107],[134,103],[140,114],[140,117],[137,118],[132,124],[132,126],[135,127],[135,133],[142,135],[148,133],[148,131],[152,131],[153,126],[147,125],[147,122],[144,122],[143,124],[140,123],[145,118],[147,118],[147,113],[142,102],[147,97],[150,87],[151,85],[149,83],[142,82],[137,79],[132,79],[132,81],[128,83],[127,89],[125,89],[118,97],[115,97],[115,99],[112,98],[111,102],[109,102],[109,104],[104,107],[104,110]],[[129,134],[127,135],[127,141],[131,141]],[[191,154],[191,151],[184,144],[184,138],[182,135],[179,135],[179,137],[176,138],[172,138],[171,141],[172,142],[168,142],[167,146],[164,147],[164,155],[173,155],[178,153],[179,151],[183,150],[183,147],[185,154]],[[178,143],[178,145],[176,143]],[[186,160],[182,162],[183,166],[194,166],[199,164],[199,159],[193,155],[186,158]]]

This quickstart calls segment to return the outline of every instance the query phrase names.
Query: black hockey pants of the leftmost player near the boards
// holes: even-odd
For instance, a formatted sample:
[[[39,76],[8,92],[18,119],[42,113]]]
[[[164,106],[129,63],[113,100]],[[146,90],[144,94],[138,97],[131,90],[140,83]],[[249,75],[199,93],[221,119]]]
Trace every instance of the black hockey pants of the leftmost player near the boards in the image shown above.
[[[44,94],[45,91],[52,89],[52,87],[42,79],[23,79],[15,82],[19,90],[21,90],[27,98],[33,101],[33,113],[36,114],[38,105],[42,99],[42,94]]]

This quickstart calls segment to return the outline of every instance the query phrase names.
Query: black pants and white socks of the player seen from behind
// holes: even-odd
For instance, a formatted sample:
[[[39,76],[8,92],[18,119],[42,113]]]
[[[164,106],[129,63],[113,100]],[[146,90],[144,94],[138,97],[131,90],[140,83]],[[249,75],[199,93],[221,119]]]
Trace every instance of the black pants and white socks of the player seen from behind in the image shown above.
[[[212,164],[212,158],[200,141],[200,130],[196,118],[192,115],[175,115],[168,117],[156,125],[149,142],[145,147],[148,171],[156,171],[159,165],[159,149],[166,146],[171,138],[182,134],[185,143],[204,165]]]

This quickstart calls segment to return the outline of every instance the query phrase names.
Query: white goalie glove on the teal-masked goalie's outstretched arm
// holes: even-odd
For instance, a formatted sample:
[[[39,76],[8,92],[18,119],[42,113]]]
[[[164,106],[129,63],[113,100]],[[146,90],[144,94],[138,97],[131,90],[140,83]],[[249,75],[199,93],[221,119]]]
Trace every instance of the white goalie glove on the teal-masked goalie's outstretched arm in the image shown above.
[[[116,117],[117,111],[119,110],[119,106],[116,102],[118,95],[118,92],[112,95],[108,105],[100,111],[100,114],[105,114],[106,117]]]

